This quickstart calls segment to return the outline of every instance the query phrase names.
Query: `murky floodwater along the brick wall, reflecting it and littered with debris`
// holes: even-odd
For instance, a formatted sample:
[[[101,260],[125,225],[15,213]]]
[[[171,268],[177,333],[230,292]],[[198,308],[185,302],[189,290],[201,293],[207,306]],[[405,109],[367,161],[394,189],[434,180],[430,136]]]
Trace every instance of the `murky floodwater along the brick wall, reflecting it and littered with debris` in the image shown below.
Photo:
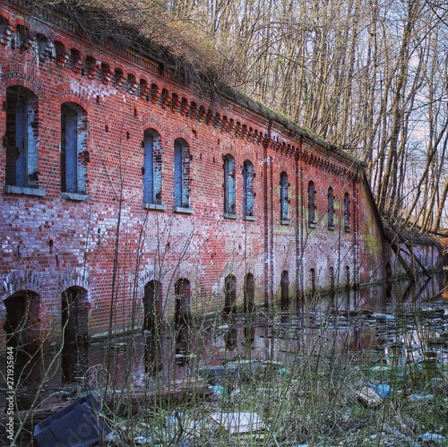
[[[383,364],[410,360],[445,365],[448,277],[306,297],[289,312],[255,309],[194,324],[164,328],[159,338],[146,331],[117,337],[110,346],[91,343],[90,386],[106,378],[114,389],[147,385],[156,375],[168,382],[194,377],[203,366],[243,359],[288,366],[304,355],[363,362],[376,353]]]

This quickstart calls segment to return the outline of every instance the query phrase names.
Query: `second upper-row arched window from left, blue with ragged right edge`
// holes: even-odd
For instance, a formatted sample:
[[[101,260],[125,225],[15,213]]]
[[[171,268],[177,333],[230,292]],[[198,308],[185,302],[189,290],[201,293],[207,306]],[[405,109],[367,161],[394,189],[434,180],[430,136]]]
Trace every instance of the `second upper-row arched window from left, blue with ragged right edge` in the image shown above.
[[[86,193],[87,113],[72,102],[61,107],[61,192]]]

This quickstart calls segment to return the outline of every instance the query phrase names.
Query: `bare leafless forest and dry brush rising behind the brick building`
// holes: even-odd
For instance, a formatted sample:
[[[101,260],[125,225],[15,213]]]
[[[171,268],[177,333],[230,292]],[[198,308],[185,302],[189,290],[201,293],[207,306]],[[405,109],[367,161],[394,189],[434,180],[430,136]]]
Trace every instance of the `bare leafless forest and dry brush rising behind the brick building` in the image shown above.
[[[199,73],[197,79],[192,74],[198,87],[204,80],[217,90],[227,84],[349,151],[366,162],[384,217],[422,232],[446,232],[444,0],[56,3],[67,4],[103,37],[116,32],[95,13],[106,9],[157,43],[177,68]]]

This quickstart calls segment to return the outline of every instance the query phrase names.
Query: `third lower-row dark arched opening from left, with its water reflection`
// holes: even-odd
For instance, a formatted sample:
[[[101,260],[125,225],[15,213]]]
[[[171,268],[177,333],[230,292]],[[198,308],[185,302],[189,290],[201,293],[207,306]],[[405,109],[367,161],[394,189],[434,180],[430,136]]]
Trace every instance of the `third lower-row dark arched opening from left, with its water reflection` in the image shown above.
[[[152,280],[144,288],[143,336],[145,372],[157,374],[162,369],[160,343],[160,309],[162,305],[162,285]]]

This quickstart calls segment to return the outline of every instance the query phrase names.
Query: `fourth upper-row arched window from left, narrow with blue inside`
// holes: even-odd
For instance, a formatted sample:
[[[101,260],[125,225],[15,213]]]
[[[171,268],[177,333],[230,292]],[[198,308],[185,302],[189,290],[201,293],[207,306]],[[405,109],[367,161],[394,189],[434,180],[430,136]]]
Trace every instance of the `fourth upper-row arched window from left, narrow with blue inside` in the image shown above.
[[[177,208],[190,207],[190,147],[182,138],[174,142],[174,202]]]

